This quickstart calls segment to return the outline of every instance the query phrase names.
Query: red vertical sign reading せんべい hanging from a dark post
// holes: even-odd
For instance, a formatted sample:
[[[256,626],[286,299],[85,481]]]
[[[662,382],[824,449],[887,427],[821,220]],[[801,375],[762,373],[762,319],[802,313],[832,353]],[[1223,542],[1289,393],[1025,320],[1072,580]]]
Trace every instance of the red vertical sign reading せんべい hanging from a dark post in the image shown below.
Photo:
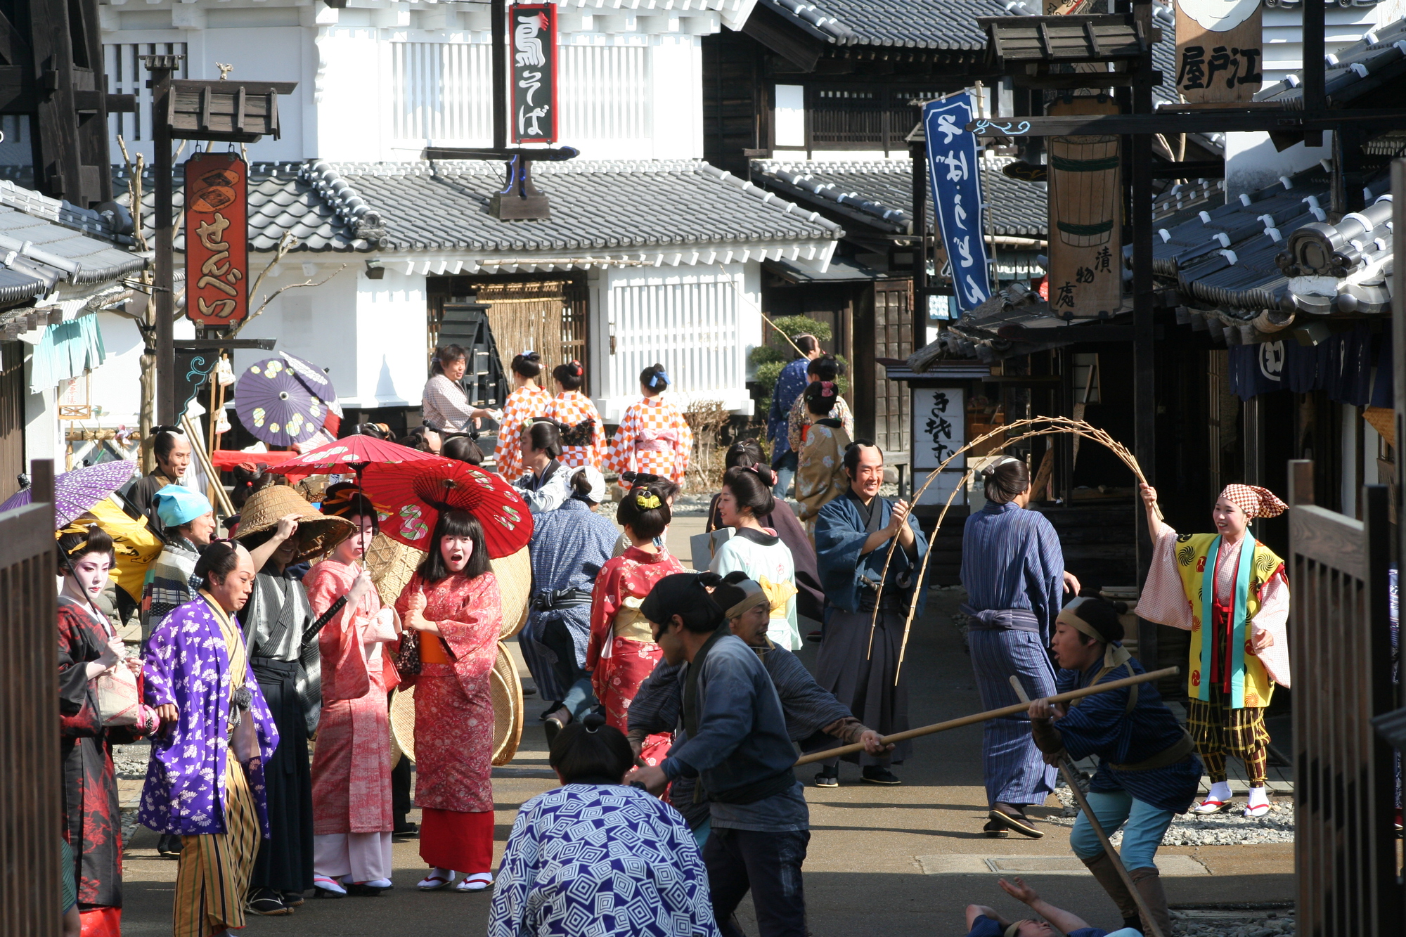
[[[249,315],[249,172],[235,153],[186,160],[186,315],[238,325]]]

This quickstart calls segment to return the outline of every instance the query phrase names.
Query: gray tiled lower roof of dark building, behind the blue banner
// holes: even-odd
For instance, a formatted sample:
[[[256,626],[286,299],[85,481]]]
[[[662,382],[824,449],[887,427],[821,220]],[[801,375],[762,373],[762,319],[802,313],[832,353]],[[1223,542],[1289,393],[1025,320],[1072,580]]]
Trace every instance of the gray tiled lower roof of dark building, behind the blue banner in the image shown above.
[[[1045,190],[1001,173],[1012,162],[1005,156],[981,160],[983,196],[991,210],[991,234],[1043,238]],[[752,177],[787,197],[863,221],[880,231],[908,229],[912,211],[912,169],[907,159],[873,162],[752,160]],[[928,194],[928,219],[932,219]]]

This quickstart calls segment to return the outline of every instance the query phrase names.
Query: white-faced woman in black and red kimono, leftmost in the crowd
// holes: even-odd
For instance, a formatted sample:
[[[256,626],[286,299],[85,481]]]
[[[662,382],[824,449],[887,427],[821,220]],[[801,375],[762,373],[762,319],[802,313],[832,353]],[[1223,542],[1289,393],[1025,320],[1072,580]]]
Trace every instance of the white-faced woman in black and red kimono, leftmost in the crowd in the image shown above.
[[[69,529],[59,537],[59,747],[83,937],[122,933],[122,824],[112,746],[156,727],[156,710],[141,705],[139,689],[132,699],[135,725],[104,727],[98,712],[98,677],[131,670],[134,687],[141,680],[141,661],[127,657],[122,639],[93,605],[114,561],[112,539],[97,528]]]

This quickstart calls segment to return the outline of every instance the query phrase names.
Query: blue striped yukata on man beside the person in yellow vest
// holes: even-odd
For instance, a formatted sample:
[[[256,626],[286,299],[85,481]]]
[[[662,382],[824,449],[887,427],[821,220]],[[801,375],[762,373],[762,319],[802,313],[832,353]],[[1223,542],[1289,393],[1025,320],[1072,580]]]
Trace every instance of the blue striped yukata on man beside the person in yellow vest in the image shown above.
[[[972,616],[967,640],[983,709],[1054,694],[1049,639],[1064,592],[1064,553],[1050,522],[1014,502],[987,502],[962,532],[962,585]],[[983,736],[981,777],[991,806],[1043,803],[1054,789],[1024,715],[991,719]]]

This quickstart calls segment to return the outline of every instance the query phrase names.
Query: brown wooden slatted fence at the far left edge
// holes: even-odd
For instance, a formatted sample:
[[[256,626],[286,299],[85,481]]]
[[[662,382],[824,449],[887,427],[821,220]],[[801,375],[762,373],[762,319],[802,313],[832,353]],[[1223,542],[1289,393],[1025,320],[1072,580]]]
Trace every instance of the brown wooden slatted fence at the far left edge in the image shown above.
[[[0,514],[0,934],[60,930],[59,642],[53,463],[32,463],[34,502]]]

